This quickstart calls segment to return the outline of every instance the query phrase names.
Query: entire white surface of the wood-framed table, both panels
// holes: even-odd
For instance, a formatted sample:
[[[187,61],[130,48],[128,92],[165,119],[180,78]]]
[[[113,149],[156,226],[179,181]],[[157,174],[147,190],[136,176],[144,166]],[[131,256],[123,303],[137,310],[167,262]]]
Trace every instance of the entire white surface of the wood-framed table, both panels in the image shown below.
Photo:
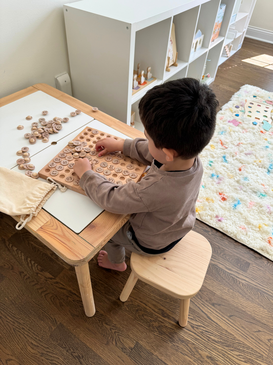
[[[18,103],[19,101],[21,101],[21,103]],[[46,103],[46,101],[48,103]],[[9,106],[9,108],[6,108],[7,106]],[[4,111],[2,110],[3,108],[5,108]],[[38,172],[47,163],[49,163],[49,161],[56,156],[70,140],[75,138],[79,132],[87,126],[111,133],[117,137],[130,138],[81,112],[78,116],[74,117],[74,119],[70,118],[68,123],[62,123],[62,134],[55,133],[54,135],[50,135],[49,143],[46,144],[37,140],[35,145],[30,145],[24,138],[24,134],[29,131],[28,129],[30,129],[26,128],[28,124],[25,122],[28,122],[29,125],[31,125],[33,121],[38,120],[38,118],[42,118],[43,116],[41,116],[41,111],[43,110],[50,111],[48,114],[49,117],[46,116],[46,120],[50,120],[54,117],[70,117],[70,112],[73,111],[73,108],[42,91],[37,91],[27,97],[0,108],[1,145],[2,148],[3,145],[9,145],[9,154],[6,154],[6,158],[5,156],[0,157],[1,166],[12,168],[14,171],[25,174],[25,170],[19,170],[16,165],[16,160],[20,158],[16,155],[16,151],[23,146],[28,146],[30,148],[29,152],[31,163],[35,165],[35,172]],[[33,117],[31,121],[27,121],[25,119],[28,115]],[[5,117],[5,119],[2,119],[3,117]],[[78,120],[76,120],[76,118],[78,118]],[[9,121],[9,123],[7,123],[7,121]],[[17,130],[16,127],[19,124],[25,125],[25,129]],[[13,143],[8,143],[6,136],[12,136],[15,130],[19,133],[17,133]],[[57,144],[51,145],[50,143],[52,141],[57,142]],[[5,150],[5,147],[2,150]],[[39,178],[39,180],[45,181],[41,178]],[[43,208],[75,233],[80,233],[82,229],[89,225],[100,213],[103,212],[103,209],[95,204],[90,198],[69,189],[67,189],[65,193],[61,193],[61,191],[57,189]]]

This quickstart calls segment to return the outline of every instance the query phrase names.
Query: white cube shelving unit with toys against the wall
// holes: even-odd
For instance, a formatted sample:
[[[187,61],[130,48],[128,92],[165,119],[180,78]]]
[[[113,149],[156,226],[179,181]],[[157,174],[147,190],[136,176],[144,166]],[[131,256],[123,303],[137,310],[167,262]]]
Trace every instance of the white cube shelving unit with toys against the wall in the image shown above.
[[[138,103],[156,85],[186,76],[201,80],[204,66],[214,81],[225,61],[225,45],[239,49],[256,0],[82,0],[64,5],[73,96],[130,124],[140,122]],[[226,4],[219,37],[211,42],[220,4]],[[239,10],[239,11],[238,11]],[[237,11],[236,18],[234,16]],[[232,21],[233,17],[233,21]],[[167,45],[175,24],[178,66],[165,71]],[[238,31],[231,40],[228,30]],[[191,53],[196,31],[201,49]],[[227,57],[226,57],[227,59]],[[211,61],[207,61],[211,60]],[[132,95],[133,70],[152,67],[157,80]]]

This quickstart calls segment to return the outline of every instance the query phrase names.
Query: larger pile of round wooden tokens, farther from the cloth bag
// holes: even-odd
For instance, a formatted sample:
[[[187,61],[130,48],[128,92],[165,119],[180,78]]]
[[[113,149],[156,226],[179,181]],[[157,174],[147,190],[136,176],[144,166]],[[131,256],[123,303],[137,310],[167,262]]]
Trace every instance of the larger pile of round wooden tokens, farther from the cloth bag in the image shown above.
[[[79,114],[80,110],[75,110],[70,113],[72,117],[75,117]],[[43,110],[41,112],[43,116],[48,114],[47,110]],[[27,116],[26,120],[31,120],[31,116]],[[39,122],[41,126],[39,126],[38,122],[33,122],[31,124],[31,132],[25,134],[25,138],[29,140],[30,144],[35,144],[38,140],[41,140],[44,143],[49,141],[49,135],[53,135],[54,133],[58,133],[62,129],[61,123],[67,123],[69,118],[58,118],[54,117],[53,120],[46,121],[45,118],[39,118]],[[17,129],[24,129],[23,125],[18,125]]]

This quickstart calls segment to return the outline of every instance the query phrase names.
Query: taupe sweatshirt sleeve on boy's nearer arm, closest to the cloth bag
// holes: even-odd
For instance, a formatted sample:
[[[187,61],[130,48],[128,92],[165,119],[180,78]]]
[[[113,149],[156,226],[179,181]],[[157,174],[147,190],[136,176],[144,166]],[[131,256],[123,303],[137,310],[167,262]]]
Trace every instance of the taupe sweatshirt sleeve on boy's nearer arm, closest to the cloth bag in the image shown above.
[[[90,199],[108,212],[132,214],[149,211],[134,183],[113,184],[95,171],[88,170],[82,175],[79,184]]]

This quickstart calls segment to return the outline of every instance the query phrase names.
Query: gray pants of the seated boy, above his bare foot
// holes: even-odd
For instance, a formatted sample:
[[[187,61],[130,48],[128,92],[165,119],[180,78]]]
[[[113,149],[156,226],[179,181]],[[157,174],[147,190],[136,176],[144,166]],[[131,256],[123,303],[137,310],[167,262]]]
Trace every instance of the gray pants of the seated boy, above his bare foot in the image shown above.
[[[122,263],[125,260],[125,249],[144,256],[155,256],[152,254],[146,254],[140,247],[138,247],[132,238],[130,227],[131,223],[129,221],[126,222],[104,246],[105,251],[108,253],[110,262],[116,264]]]

